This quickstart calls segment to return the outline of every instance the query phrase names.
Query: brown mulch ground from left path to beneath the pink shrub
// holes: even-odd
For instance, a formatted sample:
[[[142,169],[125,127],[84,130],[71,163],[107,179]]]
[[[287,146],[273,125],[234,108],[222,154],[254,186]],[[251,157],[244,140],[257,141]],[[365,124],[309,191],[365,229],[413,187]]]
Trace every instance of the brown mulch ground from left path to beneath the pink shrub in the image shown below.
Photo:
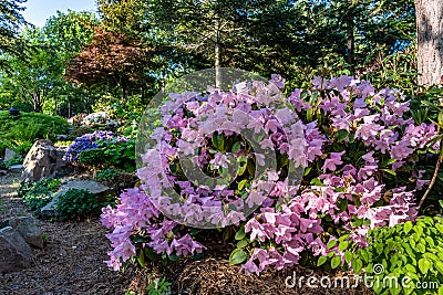
[[[17,215],[31,215],[16,191],[19,176],[0,178],[0,220]],[[203,261],[182,261],[168,265],[151,264],[144,270],[127,267],[122,273],[110,270],[103,261],[111,250],[104,236],[107,230],[97,219],[82,222],[38,220],[47,236],[45,249],[34,249],[31,267],[21,272],[0,274],[0,295],[11,294],[146,294],[145,289],[156,278],[166,277],[173,283],[173,294],[373,294],[359,288],[286,287],[286,278],[301,275],[321,277],[319,271],[307,268],[274,271],[260,276],[247,276],[239,266],[229,265],[226,255],[206,257]],[[134,294],[133,293],[133,294]]]

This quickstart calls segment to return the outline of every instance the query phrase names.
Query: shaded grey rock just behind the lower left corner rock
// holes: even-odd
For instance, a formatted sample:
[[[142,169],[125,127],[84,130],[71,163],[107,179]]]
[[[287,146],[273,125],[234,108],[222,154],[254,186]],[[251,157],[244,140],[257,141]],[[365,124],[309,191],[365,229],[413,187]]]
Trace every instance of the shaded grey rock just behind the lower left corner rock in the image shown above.
[[[7,223],[17,230],[28,244],[43,249],[43,231],[37,225],[35,219],[31,217],[10,218]]]

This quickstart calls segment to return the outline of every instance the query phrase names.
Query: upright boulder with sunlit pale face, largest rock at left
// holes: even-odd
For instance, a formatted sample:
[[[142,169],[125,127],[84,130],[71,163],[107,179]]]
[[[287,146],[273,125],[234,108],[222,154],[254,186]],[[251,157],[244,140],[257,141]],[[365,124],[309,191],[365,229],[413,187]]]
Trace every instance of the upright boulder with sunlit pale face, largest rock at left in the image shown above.
[[[51,140],[37,140],[24,158],[24,181],[70,173],[72,167],[63,160],[64,152],[65,148],[54,147]]]

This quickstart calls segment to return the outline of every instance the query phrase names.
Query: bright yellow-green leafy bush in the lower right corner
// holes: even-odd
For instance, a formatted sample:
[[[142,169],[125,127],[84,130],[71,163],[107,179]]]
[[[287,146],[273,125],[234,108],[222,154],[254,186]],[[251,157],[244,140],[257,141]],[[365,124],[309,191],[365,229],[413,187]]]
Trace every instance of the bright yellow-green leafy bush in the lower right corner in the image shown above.
[[[422,217],[415,224],[408,221],[392,228],[377,228],[369,231],[368,242],[369,246],[358,249],[353,255],[347,253],[346,257],[352,261],[357,273],[364,270],[373,276],[375,294],[436,294],[439,286],[442,294],[442,218]],[[389,277],[395,277],[399,285],[383,287]],[[424,282],[427,288],[422,288]]]

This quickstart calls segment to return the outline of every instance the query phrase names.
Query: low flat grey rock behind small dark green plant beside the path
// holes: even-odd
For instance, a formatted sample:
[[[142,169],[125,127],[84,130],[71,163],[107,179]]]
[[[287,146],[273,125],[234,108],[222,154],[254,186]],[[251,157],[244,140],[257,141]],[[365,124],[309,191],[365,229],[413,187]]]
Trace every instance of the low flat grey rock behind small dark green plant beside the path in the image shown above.
[[[43,218],[56,217],[56,203],[59,199],[64,196],[70,189],[86,190],[87,192],[96,197],[106,194],[112,191],[111,188],[93,180],[71,180],[59,188],[51,202],[49,202],[45,207],[41,209],[40,214]]]

